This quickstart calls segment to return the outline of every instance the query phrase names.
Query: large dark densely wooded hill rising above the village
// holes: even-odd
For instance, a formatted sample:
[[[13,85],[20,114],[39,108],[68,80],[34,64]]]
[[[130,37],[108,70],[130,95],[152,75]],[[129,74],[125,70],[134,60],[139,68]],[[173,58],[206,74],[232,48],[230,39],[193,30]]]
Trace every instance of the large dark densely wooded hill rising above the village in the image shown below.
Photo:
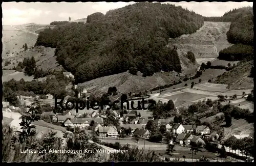
[[[90,19],[89,19],[90,18]],[[69,23],[41,32],[36,45],[56,47],[57,61],[78,82],[130,70],[144,76],[181,71],[169,37],[195,33],[204,18],[174,5],[137,3],[88,16],[88,23]]]

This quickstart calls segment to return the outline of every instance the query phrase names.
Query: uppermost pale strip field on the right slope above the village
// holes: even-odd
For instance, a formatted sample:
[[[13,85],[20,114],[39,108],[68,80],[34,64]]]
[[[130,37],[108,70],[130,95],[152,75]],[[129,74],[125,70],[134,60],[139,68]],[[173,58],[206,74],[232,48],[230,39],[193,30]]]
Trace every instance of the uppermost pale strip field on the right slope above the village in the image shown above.
[[[228,89],[225,84],[212,84],[205,82],[204,84],[195,85],[194,89],[204,90],[204,91],[215,91],[215,92],[226,92]]]

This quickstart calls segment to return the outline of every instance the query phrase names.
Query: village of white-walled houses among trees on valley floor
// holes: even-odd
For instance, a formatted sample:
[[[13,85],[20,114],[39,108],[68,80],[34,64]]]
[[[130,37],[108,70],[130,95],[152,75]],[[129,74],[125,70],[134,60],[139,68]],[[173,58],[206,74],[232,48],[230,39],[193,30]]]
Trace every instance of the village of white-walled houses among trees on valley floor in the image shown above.
[[[63,75],[66,78],[71,78],[71,80],[74,78],[68,72],[63,72]],[[105,98],[101,98],[100,102],[107,101],[107,103],[111,103],[108,100],[108,96],[115,96],[116,92],[113,92],[113,89],[115,90],[115,87],[110,87],[109,92],[102,95]],[[75,93],[77,97],[86,101],[84,103],[89,103],[87,100],[90,100],[90,93],[85,88],[73,85],[73,90],[77,92]],[[250,95],[252,92],[250,92]],[[176,92],[173,93],[175,94]],[[44,99],[40,99],[40,96],[17,96],[17,98],[24,106],[26,105],[27,111],[31,107],[33,108],[35,104],[37,106],[40,105],[40,108],[44,108],[39,115],[41,117],[40,120],[33,122],[34,125],[50,128],[58,132],[74,132],[74,130],[79,129],[91,135],[94,143],[112,149],[118,150],[120,145],[129,144],[145,151],[153,150],[159,152],[158,157],[164,160],[167,158],[175,160],[175,158],[182,157],[184,160],[188,158],[193,160],[194,154],[194,160],[197,161],[199,159],[204,160],[203,158],[208,158],[205,160],[216,160],[218,155],[212,157],[212,154],[218,151],[220,151],[218,157],[221,158],[221,151],[225,148],[224,151],[225,153],[228,152],[229,156],[236,155],[240,158],[245,156],[247,160],[252,159],[250,149],[243,148],[240,150],[233,148],[234,145],[230,145],[230,140],[253,140],[253,135],[241,133],[230,135],[230,133],[225,133],[225,127],[231,125],[231,120],[228,115],[222,114],[223,110],[221,110],[226,109],[225,107],[228,105],[230,107],[230,101],[241,99],[246,101],[246,98],[248,98],[246,93],[243,92],[241,99],[236,99],[236,94],[231,95],[229,99],[219,95],[217,100],[202,99],[202,101],[199,100],[185,107],[179,106],[179,108],[175,106],[177,98],[174,101],[168,100],[165,103],[160,100],[154,100],[157,99],[156,97],[163,95],[161,92],[152,93],[151,91],[148,94],[145,92],[143,94],[130,93],[128,95],[129,97],[126,94],[122,94],[121,97],[117,98],[121,98],[121,101],[123,101],[122,109],[120,108],[120,102],[112,106],[112,108],[109,106],[110,103],[103,105],[103,109],[97,106],[97,103],[94,103],[94,106],[90,106],[89,109],[85,107],[81,110],[78,109],[78,112],[76,108],[61,110],[58,104],[58,107],[55,108],[55,99],[51,94],[44,96]],[[65,97],[62,103],[64,108],[66,108],[66,105],[72,107],[72,103],[66,104],[69,99],[72,99],[72,96]],[[146,109],[142,109],[142,99],[144,101],[143,108]],[[93,105],[92,102],[94,101],[90,100],[90,104]],[[221,103],[227,103],[227,105],[220,106]],[[8,117],[8,114],[14,114],[12,112],[20,113],[21,111],[20,107],[11,106],[9,102],[3,101],[4,117]],[[220,116],[209,115],[209,112],[216,113],[216,111],[219,112]],[[202,119],[205,116],[214,117],[215,123],[210,124],[203,121]],[[12,123],[11,120],[8,122],[8,119],[5,118],[4,123]],[[219,122],[216,123],[216,121]],[[223,121],[226,124],[223,124]],[[228,139],[225,139],[228,134]],[[228,147],[228,145],[232,147]],[[189,151],[190,153],[187,154]],[[185,152],[184,155],[182,152]]]

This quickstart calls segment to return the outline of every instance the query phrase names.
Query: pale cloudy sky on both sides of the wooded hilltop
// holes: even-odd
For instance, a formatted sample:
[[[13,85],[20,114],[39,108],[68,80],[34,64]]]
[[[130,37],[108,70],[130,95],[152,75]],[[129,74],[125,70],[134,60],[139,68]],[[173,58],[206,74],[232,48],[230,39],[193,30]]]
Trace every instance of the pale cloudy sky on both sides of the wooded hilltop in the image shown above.
[[[165,2],[193,10],[203,16],[222,16],[225,12],[239,7],[252,7],[252,2]],[[165,4],[164,3],[164,4]],[[101,12],[105,14],[109,10],[122,8],[135,2],[76,2],[76,3],[2,3],[4,25],[18,25],[24,23],[49,24],[52,21],[67,21],[86,18],[88,15]]]

